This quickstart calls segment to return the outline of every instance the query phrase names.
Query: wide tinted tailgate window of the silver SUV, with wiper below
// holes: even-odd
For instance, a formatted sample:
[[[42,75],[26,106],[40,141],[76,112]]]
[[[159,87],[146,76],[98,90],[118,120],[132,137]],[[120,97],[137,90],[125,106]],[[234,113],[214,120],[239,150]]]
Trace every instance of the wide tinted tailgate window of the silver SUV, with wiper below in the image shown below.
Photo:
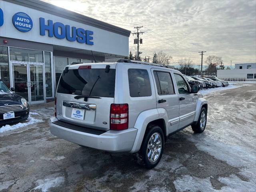
[[[114,97],[116,70],[72,69],[62,73],[58,93]]]

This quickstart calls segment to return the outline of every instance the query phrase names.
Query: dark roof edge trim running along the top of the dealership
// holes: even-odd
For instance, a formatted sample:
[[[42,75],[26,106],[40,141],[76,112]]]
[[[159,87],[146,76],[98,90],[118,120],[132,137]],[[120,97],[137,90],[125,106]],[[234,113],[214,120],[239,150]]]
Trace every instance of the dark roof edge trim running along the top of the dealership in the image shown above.
[[[96,28],[100,28],[103,30],[107,30],[116,34],[124,35],[129,37],[131,31],[102,22],[100,20],[96,20],[94,18],[90,18],[88,16],[84,16],[82,14],[78,14],[76,12],[66,10],[64,8],[52,5],[50,3],[46,3],[40,0],[4,0],[6,2],[18,4],[21,6],[25,6],[28,8],[32,8],[38,11],[42,11],[48,14],[56,15],[62,18],[66,18],[69,20],[73,20],[79,23],[83,23],[86,25],[90,25]]]

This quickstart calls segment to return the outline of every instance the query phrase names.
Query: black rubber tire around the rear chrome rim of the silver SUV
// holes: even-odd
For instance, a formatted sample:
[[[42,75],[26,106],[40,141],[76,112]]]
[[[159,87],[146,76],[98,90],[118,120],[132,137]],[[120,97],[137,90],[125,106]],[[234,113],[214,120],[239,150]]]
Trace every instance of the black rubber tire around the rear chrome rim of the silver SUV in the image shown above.
[[[154,134],[160,135],[162,145],[161,145],[161,150],[160,150],[160,153],[159,153],[156,161],[150,162],[150,160],[148,160],[148,156],[147,156],[148,143],[150,142],[150,138]],[[163,133],[162,129],[158,125],[149,125],[148,128],[146,129],[140,150],[136,154],[134,154],[134,160],[138,164],[140,164],[142,166],[146,166],[146,168],[148,168],[148,169],[151,169],[151,168],[154,168],[158,164],[158,162],[162,158],[163,151],[164,151],[164,133]]]

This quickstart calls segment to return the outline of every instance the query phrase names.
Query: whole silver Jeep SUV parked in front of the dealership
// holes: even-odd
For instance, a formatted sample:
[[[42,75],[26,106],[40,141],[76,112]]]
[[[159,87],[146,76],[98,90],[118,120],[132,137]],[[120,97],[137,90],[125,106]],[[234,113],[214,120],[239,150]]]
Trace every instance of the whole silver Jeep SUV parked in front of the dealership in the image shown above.
[[[64,68],[50,131],[80,146],[130,152],[153,168],[168,135],[190,125],[202,133],[206,121],[207,101],[179,71],[121,59]]]

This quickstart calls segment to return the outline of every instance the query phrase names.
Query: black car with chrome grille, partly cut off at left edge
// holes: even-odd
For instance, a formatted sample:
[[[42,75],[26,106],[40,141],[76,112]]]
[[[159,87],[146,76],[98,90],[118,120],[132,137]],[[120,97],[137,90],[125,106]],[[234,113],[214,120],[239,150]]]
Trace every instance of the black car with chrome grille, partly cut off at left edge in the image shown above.
[[[0,79],[0,125],[28,118],[28,102],[13,91],[14,88],[8,89],[6,84]]]

